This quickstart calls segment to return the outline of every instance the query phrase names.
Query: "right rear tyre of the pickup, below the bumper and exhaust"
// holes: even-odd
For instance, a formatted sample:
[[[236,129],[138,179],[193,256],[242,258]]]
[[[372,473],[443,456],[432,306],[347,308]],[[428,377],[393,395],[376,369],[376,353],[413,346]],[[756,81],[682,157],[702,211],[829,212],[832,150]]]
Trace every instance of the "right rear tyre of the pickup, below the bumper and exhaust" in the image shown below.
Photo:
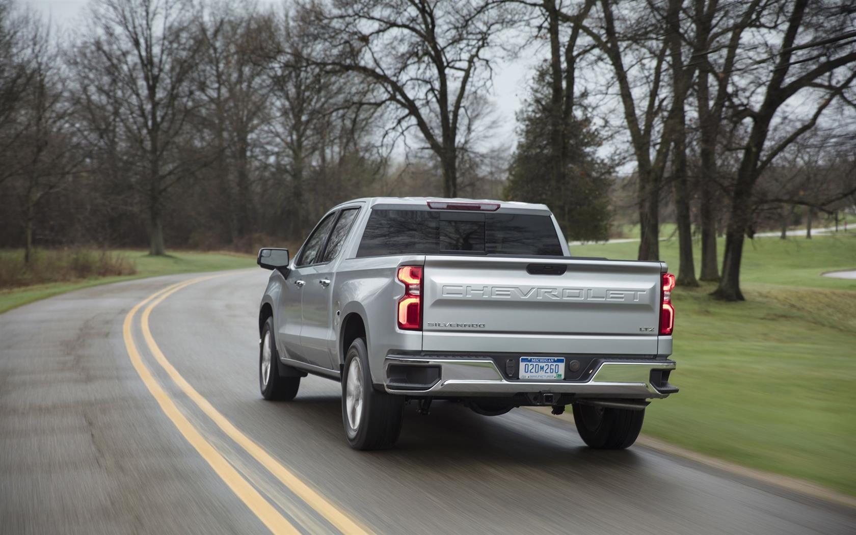
[[[589,448],[625,449],[636,442],[645,410],[595,407],[574,403],[574,423]]]

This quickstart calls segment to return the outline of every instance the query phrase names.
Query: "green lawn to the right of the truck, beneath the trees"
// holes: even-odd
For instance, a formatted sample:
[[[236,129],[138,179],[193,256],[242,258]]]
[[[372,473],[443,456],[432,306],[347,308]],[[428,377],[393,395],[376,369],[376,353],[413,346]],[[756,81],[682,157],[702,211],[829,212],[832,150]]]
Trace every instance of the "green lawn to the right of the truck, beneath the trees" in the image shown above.
[[[637,247],[571,253],[633,259]],[[677,241],[660,247],[677,273]],[[856,269],[856,232],[758,238],[746,243],[745,302],[711,299],[712,283],[676,288],[681,392],[651,403],[644,432],[856,495],[856,280],[820,276],[846,269]]]

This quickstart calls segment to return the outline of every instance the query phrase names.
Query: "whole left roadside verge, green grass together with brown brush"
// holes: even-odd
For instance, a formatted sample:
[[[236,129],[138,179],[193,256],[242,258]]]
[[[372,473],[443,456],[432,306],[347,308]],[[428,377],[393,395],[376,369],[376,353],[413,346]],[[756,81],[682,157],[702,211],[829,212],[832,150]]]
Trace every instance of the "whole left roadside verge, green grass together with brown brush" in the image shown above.
[[[20,249],[0,250],[0,312],[71,290],[146,276],[235,270],[253,267],[253,256],[237,253],[170,251],[150,256],[145,251],[110,251],[108,258],[92,251],[39,250],[33,264],[37,273],[23,270]],[[31,283],[36,282],[36,283]]]

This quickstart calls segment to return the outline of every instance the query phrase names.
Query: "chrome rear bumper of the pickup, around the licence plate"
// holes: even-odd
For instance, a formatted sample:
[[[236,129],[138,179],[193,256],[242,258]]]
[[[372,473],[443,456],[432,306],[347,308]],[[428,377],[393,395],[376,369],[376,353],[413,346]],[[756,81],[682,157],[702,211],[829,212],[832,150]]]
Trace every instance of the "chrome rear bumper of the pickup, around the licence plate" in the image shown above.
[[[390,366],[396,366],[396,370],[400,370],[400,366],[426,368],[432,372],[438,369],[439,373],[431,383],[402,384],[389,380]],[[668,377],[668,372],[674,369],[673,360],[604,360],[585,381],[532,382],[508,380],[490,359],[389,355],[383,363],[383,388],[389,394],[401,395],[506,396],[552,392],[586,398],[663,398],[676,389],[665,381],[665,384],[655,383],[652,377],[656,374],[651,372],[659,371]],[[661,388],[657,389],[657,386]]]

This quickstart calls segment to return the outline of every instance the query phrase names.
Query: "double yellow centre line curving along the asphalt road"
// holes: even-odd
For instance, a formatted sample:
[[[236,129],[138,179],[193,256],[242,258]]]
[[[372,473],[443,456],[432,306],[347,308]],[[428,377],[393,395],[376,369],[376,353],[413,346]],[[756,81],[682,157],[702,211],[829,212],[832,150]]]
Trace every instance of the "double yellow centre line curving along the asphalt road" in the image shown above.
[[[303,502],[306,502],[307,505],[315,509],[318,514],[328,520],[331,525],[336,527],[337,530],[348,534],[354,533],[355,535],[369,535],[371,532],[365,526],[361,526],[354,519],[350,518],[348,514],[343,513],[340,509],[336,508],[336,506],[324,498],[324,496],[321,496],[316,490],[313,490],[312,487],[304,483],[300,478],[294,475],[294,473],[289,471],[286,467],[283,467],[282,464],[276,461],[276,459],[267,453],[265,449],[259,446],[259,444],[253,442],[251,438],[247,437],[247,435],[235,427],[229,419],[226,419],[222,413],[217,411],[217,409],[211,405],[211,402],[200,395],[199,392],[190,385],[190,383],[187,383],[184,377],[181,377],[181,374],[175,370],[175,366],[172,366],[172,364],[169,363],[169,360],[167,360],[163,355],[163,352],[158,347],[158,343],[155,342],[154,337],[152,336],[152,330],[149,329],[149,317],[152,314],[152,309],[169,297],[169,295],[175,294],[175,292],[181,288],[186,288],[191,284],[207,281],[212,278],[216,278],[217,276],[222,275],[203,276],[187,282],[177,282],[171,286],[158,290],[158,292],[155,292],[152,295],[149,295],[146,299],[141,300],[131,308],[128,315],[125,316],[125,322],[122,326],[122,336],[124,337],[125,348],[128,350],[128,357],[131,359],[134,369],[140,375],[140,379],[142,379],[143,383],[146,384],[146,388],[149,389],[149,392],[151,392],[155,400],[158,401],[158,405],[160,405],[163,413],[169,417],[178,431],[181,432],[181,435],[183,435],[187,439],[187,442],[199,452],[199,455],[202,455],[202,458],[211,465],[217,475],[220,476],[220,479],[223,479],[223,482],[229,485],[229,488],[235,492],[235,496],[241,498],[241,501],[259,517],[259,520],[261,520],[271,532],[299,532],[298,529],[294,527],[294,525],[292,525],[284,516],[282,516],[282,514],[280,514],[280,512],[273,507],[264,496],[259,494],[259,491],[256,490],[252,484],[247,482],[247,479],[244,479],[244,477],[241,476],[241,473],[238,473],[238,471],[235,470],[235,467],[233,467],[229,461],[227,461],[223,455],[221,455],[220,452],[211,445],[211,443],[205,440],[205,437],[202,436],[196,427],[194,427],[187,417],[181,413],[178,407],[175,406],[175,401],[169,397],[169,394],[166,393],[160,383],[158,383],[155,377],[152,376],[152,372],[150,372],[148,367],[146,367],[145,362],[140,356],[140,351],[134,343],[132,325],[136,313],[140,311],[140,308],[148,304],[140,319],[140,328],[143,332],[143,338],[146,341],[146,346],[152,353],[155,360],[158,361],[158,364],[163,367],[163,370],[167,372],[169,377],[176,385],[178,385],[181,391],[183,391],[184,394],[202,410],[203,413],[211,418],[217,427],[226,433],[229,438],[246,450],[249,455],[252,455],[253,458],[256,461],[259,461],[259,463],[273,474],[276,479],[279,479],[279,481],[282,482],[288,490],[291,490],[294,495],[300,497]]]

